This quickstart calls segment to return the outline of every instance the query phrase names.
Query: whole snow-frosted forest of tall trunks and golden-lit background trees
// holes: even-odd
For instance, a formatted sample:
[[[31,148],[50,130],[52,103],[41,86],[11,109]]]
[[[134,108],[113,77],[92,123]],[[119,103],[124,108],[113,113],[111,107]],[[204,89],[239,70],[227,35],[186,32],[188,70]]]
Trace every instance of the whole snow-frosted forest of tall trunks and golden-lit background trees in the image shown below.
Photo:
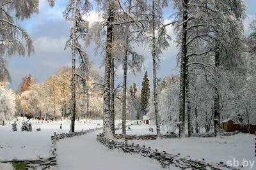
[[[55,0],[47,1],[54,8]],[[256,20],[250,23],[250,35],[244,34],[244,0],[68,0],[63,17],[72,27],[63,50],[72,53],[72,66],[60,67],[41,83],[31,71],[14,92],[7,87],[11,76],[6,57],[36,52],[17,20],[40,13],[38,5],[39,0],[0,2],[1,121],[28,113],[69,118],[74,132],[77,118],[103,119],[109,138],[115,134],[115,119],[122,119],[126,134],[125,120],[144,115],[154,120],[157,134],[178,126],[180,138],[202,128],[218,136],[226,118],[256,124]],[[173,10],[167,23],[163,8]],[[92,11],[102,21],[86,21],[84,16]],[[103,57],[104,76],[86,52],[92,44],[95,55]],[[161,54],[173,45],[179,50],[179,73],[157,77]],[[145,56],[135,46],[150,49],[152,77],[143,70]],[[120,83],[118,66],[124,73]],[[127,87],[127,74],[140,72],[145,72],[143,80]],[[136,83],[142,84],[141,90]]]

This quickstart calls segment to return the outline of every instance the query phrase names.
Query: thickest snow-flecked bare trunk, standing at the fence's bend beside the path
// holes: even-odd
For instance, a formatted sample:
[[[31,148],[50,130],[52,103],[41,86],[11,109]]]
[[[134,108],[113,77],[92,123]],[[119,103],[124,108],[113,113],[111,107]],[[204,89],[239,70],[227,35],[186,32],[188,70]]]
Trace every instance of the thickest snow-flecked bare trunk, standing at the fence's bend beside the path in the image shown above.
[[[111,94],[110,94],[110,74],[111,74],[111,48],[113,38],[113,10],[109,7],[108,28],[107,28],[107,45],[105,58],[105,87],[104,87],[104,118],[103,118],[103,132],[107,138],[112,138],[111,131]],[[110,24],[109,24],[110,23]]]

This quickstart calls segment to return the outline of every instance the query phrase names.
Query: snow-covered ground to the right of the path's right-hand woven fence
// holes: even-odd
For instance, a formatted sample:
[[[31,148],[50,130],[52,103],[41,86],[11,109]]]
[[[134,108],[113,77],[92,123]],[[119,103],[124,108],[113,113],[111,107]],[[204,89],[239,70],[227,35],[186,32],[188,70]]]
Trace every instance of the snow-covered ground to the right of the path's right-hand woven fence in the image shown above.
[[[149,127],[153,127],[154,132],[150,132]],[[121,134],[122,131],[116,133]],[[131,131],[127,134],[156,134],[156,125],[132,125]],[[244,161],[256,160],[255,157],[255,135],[239,133],[235,136],[221,138],[186,138],[186,139],[156,139],[156,140],[131,140],[128,143],[151,146],[152,149],[163,150],[167,153],[180,153],[181,157],[189,155],[191,159],[202,160],[207,162],[224,162],[228,160],[238,161],[243,164]],[[246,165],[246,164],[245,164]],[[244,169],[256,169],[256,161],[253,166],[244,167]]]

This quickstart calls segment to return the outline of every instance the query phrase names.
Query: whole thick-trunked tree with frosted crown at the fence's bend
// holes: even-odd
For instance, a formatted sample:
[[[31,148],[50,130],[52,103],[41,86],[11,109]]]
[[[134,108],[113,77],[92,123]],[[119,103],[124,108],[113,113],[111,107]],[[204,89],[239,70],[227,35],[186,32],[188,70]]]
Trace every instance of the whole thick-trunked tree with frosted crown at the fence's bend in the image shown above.
[[[119,1],[98,1],[99,13],[103,22],[94,22],[90,29],[90,35],[86,41],[86,45],[90,45],[90,41],[93,40],[97,45],[95,54],[99,48],[102,48],[102,52],[105,53],[104,65],[104,135],[111,138],[112,131],[111,126],[111,92],[110,92],[110,74],[111,74],[111,59],[114,56],[123,56],[125,52],[125,41],[123,32],[115,32],[115,26],[120,27],[128,23],[139,24],[140,19],[134,15],[129,15],[125,10],[123,4]],[[106,31],[104,30],[106,28]],[[118,29],[122,31],[122,29]],[[102,35],[106,36],[106,41],[102,40]],[[115,38],[113,38],[115,37]],[[115,57],[116,58],[116,57]]]

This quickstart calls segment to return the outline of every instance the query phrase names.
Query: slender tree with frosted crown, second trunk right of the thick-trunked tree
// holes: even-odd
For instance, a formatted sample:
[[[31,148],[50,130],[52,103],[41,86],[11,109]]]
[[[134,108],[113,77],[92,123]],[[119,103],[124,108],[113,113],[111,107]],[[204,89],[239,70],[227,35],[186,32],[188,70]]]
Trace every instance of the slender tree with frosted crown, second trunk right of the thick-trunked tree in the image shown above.
[[[131,71],[132,74],[136,74],[137,72],[141,71],[141,67],[144,61],[143,55],[140,55],[139,53],[134,51],[134,46],[132,44],[140,44],[145,38],[145,26],[147,25],[145,22],[143,22],[143,17],[145,17],[147,10],[147,6],[145,4],[145,1],[125,1],[124,5],[126,6],[127,10],[125,11],[125,15],[118,20],[120,22],[124,20],[124,18],[128,18],[129,16],[132,16],[133,22],[127,22],[126,24],[122,25],[118,28],[118,30],[122,29],[123,35],[121,35],[121,38],[124,38],[124,52],[123,52],[123,58],[122,58],[122,66],[123,66],[123,92],[122,92],[122,133],[126,134],[125,130],[125,122],[126,122],[126,100],[127,100],[127,73],[128,71]],[[121,8],[124,8],[121,6]],[[128,15],[128,17],[127,17]],[[138,24],[136,23],[136,20],[134,18],[138,18],[137,20],[141,20],[141,22]],[[130,18],[131,19],[131,18]],[[127,19],[126,19],[127,20]]]

